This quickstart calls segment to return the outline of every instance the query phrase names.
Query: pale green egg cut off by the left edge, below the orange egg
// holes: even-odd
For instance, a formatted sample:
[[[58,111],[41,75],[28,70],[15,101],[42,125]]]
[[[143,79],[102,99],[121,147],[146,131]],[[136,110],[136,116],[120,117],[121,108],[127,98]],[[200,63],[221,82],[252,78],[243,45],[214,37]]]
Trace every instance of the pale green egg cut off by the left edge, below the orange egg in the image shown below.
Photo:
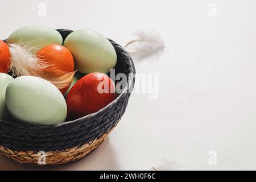
[[[14,78],[5,73],[0,73],[0,119],[1,120],[9,120],[10,114],[6,107],[5,102],[5,91],[8,84],[13,81]]]

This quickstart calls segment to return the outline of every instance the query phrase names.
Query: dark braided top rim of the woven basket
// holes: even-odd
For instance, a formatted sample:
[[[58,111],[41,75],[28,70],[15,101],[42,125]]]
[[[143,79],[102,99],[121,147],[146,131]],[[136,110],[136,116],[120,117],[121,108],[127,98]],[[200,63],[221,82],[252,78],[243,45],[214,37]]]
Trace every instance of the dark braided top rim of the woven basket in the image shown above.
[[[73,32],[72,30],[68,30],[68,29],[56,29],[57,31],[69,31],[69,32]],[[63,38],[63,42],[64,42],[65,38]],[[112,39],[109,39],[110,42],[113,42],[115,43]],[[6,41],[6,40],[4,40]],[[112,43],[112,44],[113,44]],[[116,43],[115,43],[116,44]],[[117,44],[118,45],[118,44]],[[119,45],[118,45],[119,46]],[[121,46],[120,46],[121,47]],[[123,49],[124,50],[124,49]],[[125,50],[124,50],[125,51]],[[126,52],[126,51],[125,51]],[[127,52],[126,52],[127,53]],[[129,55],[129,53],[127,53],[127,55]],[[129,55],[130,56],[130,55]],[[15,126],[24,126],[26,127],[26,129],[46,129],[48,127],[61,127],[61,126],[65,126],[65,125],[70,125],[72,123],[75,123],[75,122],[80,122],[81,119],[89,119],[89,118],[93,118],[95,117],[96,115],[100,115],[100,114],[103,114],[104,113],[104,110],[108,109],[109,107],[111,107],[112,105],[114,105],[115,103],[118,102],[119,99],[121,99],[121,97],[124,95],[124,94],[129,94],[127,93],[127,90],[130,90],[130,86],[133,86],[134,85],[134,82],[135,82],[135,74],[136,74],[136,71],[135,71],[135,68],[134,68],[134,63],[133,63],[133,60],[131,59],[130,57],[130,60],[131,60],[131,64],[133,65],[133,69],[131,69],[131,72],[129,73],[129,76],[128,76],[128,80],[127,80],[127,85],[125,86],[125,88],[122,90],[122,93],[118,94],[118,97],[115,98],[114,101],[110,102],[110,104],[108,104],[107,106],[103,107],[102,109],[98,110],[96,113],[92,113],[92,114],[89,114],[89,115],[85,115],[84,117],[81,117],[81,118],[77,118],[73,121],[65,121],[65,122],[61,122],[61,123],[58,123],[58,124],[55,124],[55,125],[34,125],[34,124],[28,124],[28,123],[22,123],[22,122],[16,122],[16,121],[3,121],[0,119],[0,125],[1,123],[5,123],[6,125],[15,125]]]

